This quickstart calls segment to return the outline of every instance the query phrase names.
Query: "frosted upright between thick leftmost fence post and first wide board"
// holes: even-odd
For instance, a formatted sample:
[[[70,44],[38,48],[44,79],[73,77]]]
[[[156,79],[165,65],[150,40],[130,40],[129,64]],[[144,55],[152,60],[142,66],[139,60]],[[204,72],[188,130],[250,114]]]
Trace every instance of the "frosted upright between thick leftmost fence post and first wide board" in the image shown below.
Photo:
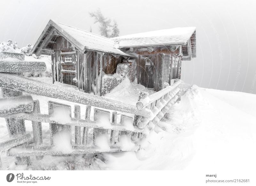
[[[35,114],[40,113],[40,105],[39,101],[34,101],[34,111]],[[33,136],[34,136],[34,143],[35,146],[40,145],[43,143],[43,135],[42,135],[42,123],[37,121],[32,121],[32,128],[33,128]],[[36,156],[37,160],[43,159],[44,156]]]

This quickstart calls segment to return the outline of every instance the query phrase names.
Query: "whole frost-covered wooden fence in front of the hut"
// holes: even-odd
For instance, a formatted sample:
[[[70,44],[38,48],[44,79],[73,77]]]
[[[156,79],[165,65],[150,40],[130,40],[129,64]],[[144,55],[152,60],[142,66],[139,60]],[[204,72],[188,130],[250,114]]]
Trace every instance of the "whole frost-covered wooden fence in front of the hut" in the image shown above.
[[[18,56],[12,62],[5,58],[0,60],[0,87],[4,96],[0,99],[0,117],[5,118],[10,136],[9,140],[0,143],[0,151],[16,157],[16,164],[29,164],[30,156],[40,160],[46,155],[137,151],[147,135],[145,127],[151,129],[157,124],[178,99],[180,80],[150,96],[140,92],[136,106],[34,81],[20,76],[26,71],[24,66],[29,66],[29,71],[44,71],[45,64],[22,61],[20,54]],[[15,55],[12,54],[12,58]],[[39,101],[22,92],[84,104],[85,118],[81,118],[79,105],[74,106],[74,117],[71,117],[70,105],[53,101],[48,102],[48,114],[42,114]],[[33,137],[26,133],[24,120],[32,121]],[[49,145],[43,142],[42,122],[50,124]],[[65,137],[70,148],[58,148],[58,137]],[[88,143],[88,139],[92,143]]]

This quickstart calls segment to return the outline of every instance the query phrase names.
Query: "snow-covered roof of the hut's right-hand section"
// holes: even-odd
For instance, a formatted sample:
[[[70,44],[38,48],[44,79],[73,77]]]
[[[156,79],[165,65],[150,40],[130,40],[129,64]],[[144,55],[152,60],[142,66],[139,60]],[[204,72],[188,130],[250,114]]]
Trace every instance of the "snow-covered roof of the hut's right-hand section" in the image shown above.
[[[164,46],[175,44],[186,45],[195,31],[196,27],[178,27],[139,34],[124,35],[114,37],[112,39],[119,42],[119,48]]]

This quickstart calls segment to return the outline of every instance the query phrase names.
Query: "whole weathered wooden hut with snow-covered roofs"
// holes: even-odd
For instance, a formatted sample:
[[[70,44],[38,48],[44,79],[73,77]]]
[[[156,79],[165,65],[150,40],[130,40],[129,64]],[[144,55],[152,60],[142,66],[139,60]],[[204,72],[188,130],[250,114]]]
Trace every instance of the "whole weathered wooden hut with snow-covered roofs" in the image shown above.
[[[180,78],[181,60],[196,57],[196,29],[106,38],[50,20],[31,53],[52,56],[53,83],[61,81],[101,95],[105,83],[102,76],[115,74],[118,64],[124,63],[134,67],[127,72],[131,81],[136,77],[138,83],[159,91],[164,82],[172,84],[172,79]],[[116,82],[120,81],[110,84]]]

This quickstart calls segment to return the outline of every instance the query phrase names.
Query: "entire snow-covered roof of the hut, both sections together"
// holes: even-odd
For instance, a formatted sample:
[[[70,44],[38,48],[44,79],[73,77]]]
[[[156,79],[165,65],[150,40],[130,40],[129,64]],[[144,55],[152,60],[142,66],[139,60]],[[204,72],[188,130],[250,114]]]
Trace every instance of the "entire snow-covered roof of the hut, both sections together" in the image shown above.
[[[187,47],[188,43],[190,45],[190,40],[192,57],[196,57],[196,27],[179,27],[107,38],[75,27],[57,23],[51,19],[34,45],[31,53],[37,52],[39,54],[38,50],[46,48],[45,41],[47,41],[47,36],[52,34],[52,27],[83,53],[86,50],[92,50],[114,55],[134,57],[132,54],[127,54],[120,49],[130,47],[182,45],[183,56],[188,56]],[[42,45],[44,46],[42,47]]]

